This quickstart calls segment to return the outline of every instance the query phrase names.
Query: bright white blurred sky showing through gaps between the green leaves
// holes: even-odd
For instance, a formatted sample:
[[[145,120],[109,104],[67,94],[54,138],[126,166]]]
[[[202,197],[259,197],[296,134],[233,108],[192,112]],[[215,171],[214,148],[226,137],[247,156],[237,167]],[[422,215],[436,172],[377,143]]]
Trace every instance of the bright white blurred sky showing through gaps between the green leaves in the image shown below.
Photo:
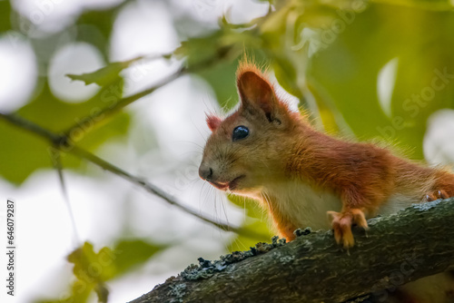
[[[119,2],[121,0],[13,1],[15,9],[30,16],[35,23],[37,30],[30,35],[42,36],[68,29],[62,34],[61,45],[46,70],[40,68],[39,58],[21,35],[10,32],[0,37],[0,111],[13,112],[23,106],[34,93],[40,73],[49,75],[53,93],[65,102],[82,102],[97,93],[96,85],[84,86],[64,76],[65,73],[92,72],[106,64],[94,46],[74,43],[71,25],[85,7],[105,7]],[[168,2],[170,5],[143,0],[124,6],[116,17],[111,37],[111,62],[142,54],[172,52],[181,39],[173,28],[173,18],[178,15],[190,12],[201,24],[193,30],[202,32],[216,28],[218,18],[227,12],[232,23],[241,23],[265,15],[268,10],[266,4],[246,0]],[[180,64],[161,60],[134,64],[123,72],[128,83],[125,94],[157,83]],[[398,63],[384,66],[377,84],[384,112],[389,107],[395,64]],[[127,111],[133,116],[133,125],[126,142],[106,144],[98,155],[170,191],[194,209],[213,218],[229,220],[234,225],[241,224],[243,210],[226,203],[222,194],[200,181],[197,174],[202,146],[209,135],[204,112],[221,112],[207,83],[185,75],[133,103]],[[147,133],[150,128],[155,130],[153,138]],[[424,142],[428,161],[437,163],[449,159],[449,153],[454,150],[454,141],[449,140],[452,133],[453,111],[437,112],[431,117]],[[156,143],[160,149],[155,148]],[[137,152],[139,150],[141,152]],[[68,280],[73,279],[72,265],[65,260],[66,255],[80,244],[79,241],[92,241],[95,250],[112,245],[123,230],[173,246],[142,269],[109,283],[110,302],[114,303],[141,296],[155,284],[195,263],[198,257],[217,259],[226,252],[231,234],[202,224],[93,165],[88,164],[87,170],[90,177],[65,171],[76,232],[72,230],[55,171],[36,171],[20,188],[0,180],[0,192],[18,205],[19,243],[18,297],[9,301],[0,297],[2,302],[30,302],[35,298],[65,295]],[[2,199],[6,198],[4,195]],[[0,213],[5,218],[5,208],[2,207]],[[5,264],[3,254],[1,258],[0,264]]]

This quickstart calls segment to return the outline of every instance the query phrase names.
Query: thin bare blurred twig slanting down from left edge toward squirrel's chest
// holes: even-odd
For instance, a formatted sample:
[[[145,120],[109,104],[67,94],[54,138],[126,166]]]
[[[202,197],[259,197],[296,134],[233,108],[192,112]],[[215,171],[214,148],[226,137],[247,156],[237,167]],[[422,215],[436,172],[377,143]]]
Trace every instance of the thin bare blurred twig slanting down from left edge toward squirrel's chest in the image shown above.
[[[169,195],[167,192],[161,190],[159,187],[153,185],[152,183],[143,181],[143,179],[135,177],[127,171],[123,171],[122,169],[116,167],[114,164],[112,164],[108,161],[104,161],[103,159],[95,156],[91,152],[87,152],[84,149],[81,149],[76,145],[71,145],[68,141],[68,138],[65,135],[62,135],[62,136],[57,135],[56,133],[50,132],[50,131],[44,129],[43,127],[41,127],[40,125],[35,124],[34,122],[30,122],[28,120],[25,120],[21,117],[13,115],[13,114],[5,114],[5,113],[0,112],[0,119],[4,119],[6,122],[10,122],[11,124],[13,124],[17,127],[20,127],[26,131],[35,133],[36,135],[51,142],[51,144],[54,146],[54,148],[57,149],[58,151],[71,152],[80,158],[90,161],[90,162],[94,163],[95,165],[101,167],[105,171],[110,171],[110,172],[122,177],[124,180],[130,181],[133,184],[138,185],[139,187],[143,188],[145,191],[148,191],[150,193],[153,193],[155,196],[158,196],[159,198],[161,198],[168,204],[170,204],[180,210],[183,210],[184,212],[192,215],[193,217],[196,217],[206,223],[209,223],[212,226],[214,226],[220,230],[232,231],[239,235],[242,235],[242,236],[245,236],[248,238],[252,238],[252,239],[254,239],[254,238],[263,239],[266,237],[262,233],[256,232],[254,230],[248,230],[248,229],[244,229],[241,227],[235,227],[228,223],[217,222],[217,221],[211,220],[209,218],[206,218],[205,216],[200,214],[198,211],[192,210],[192,209],[184,206],[181,202],[176,200],[174,197]]]

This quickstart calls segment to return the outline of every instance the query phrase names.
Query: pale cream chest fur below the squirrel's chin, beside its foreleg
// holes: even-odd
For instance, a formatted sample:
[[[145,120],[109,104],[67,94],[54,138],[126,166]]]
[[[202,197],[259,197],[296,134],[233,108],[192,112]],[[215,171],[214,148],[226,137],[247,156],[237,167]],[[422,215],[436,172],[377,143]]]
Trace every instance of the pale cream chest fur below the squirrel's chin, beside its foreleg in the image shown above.
[[[340,211],[341,199],[328,191],[317,191],[301,181],[274,183],[262,191],[262,200],[271,212],[277,210],[282,217],[298,228],[310,226],[313,230],[328,230],[329,210]]]

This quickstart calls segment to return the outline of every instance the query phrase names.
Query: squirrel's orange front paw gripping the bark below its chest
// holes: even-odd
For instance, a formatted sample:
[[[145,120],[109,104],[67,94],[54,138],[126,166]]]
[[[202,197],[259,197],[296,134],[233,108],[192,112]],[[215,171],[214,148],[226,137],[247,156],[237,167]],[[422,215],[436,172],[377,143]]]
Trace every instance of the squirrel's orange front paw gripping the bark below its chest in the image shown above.
[[[334,230],[334,239],[338,244],[342,244],[344,249],[349,249],[355,244],[351,226],[356,224],[363,228],[368,229],[368,223],[364,212],[360,209],[350,209],[337,211],[328,211],[328,216],[331,217],[331,226]]]

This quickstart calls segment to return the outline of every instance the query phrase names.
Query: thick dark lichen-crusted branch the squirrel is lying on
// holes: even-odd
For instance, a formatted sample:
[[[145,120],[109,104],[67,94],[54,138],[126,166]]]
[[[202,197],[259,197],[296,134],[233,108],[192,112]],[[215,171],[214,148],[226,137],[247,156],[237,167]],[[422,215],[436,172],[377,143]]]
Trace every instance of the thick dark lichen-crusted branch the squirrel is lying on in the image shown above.
[[[367,236],[354,230],[349,252],[331,231],[319,231],[263,254],[259,245],[240,262],[230,261],[238,252],[214,263],[200,259],[186,278],[167,279],[131,303],[343,302],[452,268],[452,218],[454,198],[437,200],[369,220]]]

